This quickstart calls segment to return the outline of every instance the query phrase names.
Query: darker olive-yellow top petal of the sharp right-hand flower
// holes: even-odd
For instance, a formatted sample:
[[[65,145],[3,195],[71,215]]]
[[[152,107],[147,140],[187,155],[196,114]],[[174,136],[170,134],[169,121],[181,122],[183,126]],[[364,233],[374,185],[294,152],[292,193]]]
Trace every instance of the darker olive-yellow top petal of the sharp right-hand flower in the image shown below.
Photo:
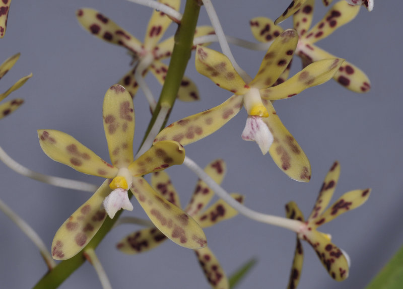
[[[298,34],[293,29],[282,32],[270,45],[250,87],[264,89],[272,86],[287,68],[298,44]]]

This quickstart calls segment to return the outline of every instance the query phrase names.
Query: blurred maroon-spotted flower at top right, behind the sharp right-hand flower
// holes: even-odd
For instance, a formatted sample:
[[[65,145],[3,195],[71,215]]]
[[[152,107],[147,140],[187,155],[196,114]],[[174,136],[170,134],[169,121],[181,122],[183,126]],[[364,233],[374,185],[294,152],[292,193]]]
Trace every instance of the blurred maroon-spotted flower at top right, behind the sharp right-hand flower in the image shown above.
[[[314,43],[330,35],[333,31],[353,20],[360,8],[351,6],[345,1],[335,4],[311,30],[308,31],[313,16],[314,0],[308,0],[294,14],[294,29],[298,32],[299,40],[295,54],[302,58],[304,66],[313,61],[334,58],[332,54],[322,50]],[[276,20],[275,23],[278,23]],[[265,17],[257,17],[250,21],[253,36],[260,42],[272,41],[280,35],[283,29]],[[286,70],[287,72],[287,70]],[[281,77],[287,79],[288,73]],[[354,64],[344,61],[333,79],[351,91],[362,93],[371,88],[368,77]]]

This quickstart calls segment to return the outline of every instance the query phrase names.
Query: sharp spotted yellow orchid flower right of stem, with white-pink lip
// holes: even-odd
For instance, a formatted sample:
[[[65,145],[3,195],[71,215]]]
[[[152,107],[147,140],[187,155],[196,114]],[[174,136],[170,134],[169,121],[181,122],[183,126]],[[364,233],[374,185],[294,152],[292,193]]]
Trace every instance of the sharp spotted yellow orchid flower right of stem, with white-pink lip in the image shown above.
[[[172,139],[185,146],[217,131],[243,105],[248,118],[242,138],[256,141],[263,155],[269,152],[279,168],[290,178],[308,182],[311,177],[309,161],[280,121],[271,100],[289,98],[308,87],[326,82],[343,60],[333,58],[314,62],[285,83],[272,87],[290,63],[297,42],[298,35],[294,30],[286,30],[279,35],[267,50],[256,77],[248,84],[225,55],[206,47],[197,47],[197,71],[234,95],[212,109],[170,124],[154,141]]]

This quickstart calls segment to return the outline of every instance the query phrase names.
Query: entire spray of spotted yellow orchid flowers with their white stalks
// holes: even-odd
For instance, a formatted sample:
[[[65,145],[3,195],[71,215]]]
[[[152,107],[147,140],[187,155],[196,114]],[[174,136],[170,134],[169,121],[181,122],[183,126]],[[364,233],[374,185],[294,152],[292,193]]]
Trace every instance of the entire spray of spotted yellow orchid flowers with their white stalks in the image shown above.
[[[225,289],[229,288],[230,282],[218,258],[207,246],[203,229],[240,213],[257,222],[283,227],[297,234],[297,248],[289,288],[296,288],[301,276],[303,250],[300,240],[305,240],[314,248],[333,279],[340,281],[347,278],[350,263],[347,253],[330,242],[330,235],[317,231],[317,228],[363,204],[369,197],[370,189],[350,191],[325,210],[340,175],[338,162],[331,166],[309,218],[304,219],[295,202],[286,205],[287,218],[282,218],[257,212],[245,206],[246,193],[228,194],[221,186],[227,172],[223,160],[217,159],[203,170],[185,156],[183,147],[221,129],[244,107],[247,120],[243,131],[239,130],[242,139],[255,141],[262,154],[268,152],[288,177],[300,182],[309,182],[311,164],[308,157],[281,122],[274,108],[274,101],[292,99],[302,91],[321,85],[332,78],[353,92],[369,91],[370,81],[363,71],[352,63],[320,49],[315,43],[352,21],[361,6],[371,11],[373,1],[342,0],[331,7],[323,20],[311,29],[309,27],[312,22],[314,0],[293,1],[275,22],[265,17],[251,19],[249,23],[255,39],[270,44],[253,79],[236,63],[210,0],[201,2],[188,0],[186,9],[188,7],[193,7],[193,10],[200,9],[201,4],[204,4],[212,27],[195,27],[198,10],[196,19],[190,17],[190,20],[186,20],[186,13],[190,13],[186,9],[182,17],[178,12],[180,0],[130,1],[159,8],[152,13],[144,43],[94,9],[81,8],[76,13],[80,25],[85,30],[102,40],[124,47],[132,57],[133,67],[117,84],[108,86],[103,101],[103,126],[111,164],[69,134],[54,129],[38,130],[40,146],[49,158],[84,174],[104,178],[102,185],[97,187],[36,173],[16,163],[0,148],[0,159],[22,175],[52,185],[93,192],[93,195],[57,230],[50,250],[53,259],[63,260],[59,264],[68,264],[66,262],[81,256],[82,261],[86,259],[94,265],[103,287],[108,288],[110,283],[95,253],[98,244],[95,242],[99,242],[102,238],[98,241],[93,239],[96,239],[94,238],[96,235],[106,234],[113,227],[111,224],[116,226],[134,223],[147,228],[136,229],[134,233],[121,239],[116,245],[119,251],[138,254],[154,249],[162,241],[170,239],[180,246],[193,249],[209,284],[213,288]],[[3,6],[0,6],[0,37],[6,32],[10,3],[11,0],[3,0]],[[330,3],[331,0],[323,1],[325,6]],[[293,16],[293,29],[283,30],[278,24],[290,16]],[[185,37],[183,40],[180,33],[185,33],[183,31],[187,28],[186,21],[192,21],[195,28],[190,33],[186,31],[186,35],[191,37]],[[172,22],[180,29],[175,37],[160,42]],[[210,43],[198,42],[198,45],[193,45],[193,38],[203,38],[206,35],[217,36],[223,53],[206,47]],[[179,49],[178,46],[183,44],[181,41],[187,41],[189,51],[195,50],[195,68],[198,73],[208,77],[216,86],[231,92],[232,96],[218,106],[177,120],[153,135],[159,130],[158,125],[166,121],[175,99],[168,101],[162,94],[157,103],[144,77],[151,71],[165,87],[165,79],[170,74],[172,64],[167,65],[161,60],[171,56],[171,62],[182,65],[184,71],[187,59],[181,59],[174,53],[175,49]],[[289,78],[294,55],[302,58],[303,69]],[[0,78],[16,63],[19,56],[16,54],[10,57],[0,66]],[[0,95],[0,100],[20,88],[31,76],[32,74],[20,79]],[[174,76],[173,79],[175,78],[180,85],[178,91],[172,93],[179,100],[203,99],[199,97],[199,92],[190,79],[183,75]],[[154,116],[164,105],[165,114],[160,122],[153,122],[154,118],[150,122],[152,129],[146,133],[144,140],[152,137],[154,141],[152,145],[151,142],[144,141],[140,153],[135,156],[133,98],[139,87],[144,91],[152,112],[155,112]],[[0,118],[13,112],[22,103],[22,99],[15,99],[1,104]],[[199,177],[190,201],[183,209],[171,178],[164,171],[182,163]],[[144,177],[147,174],[151,174],[151,185]],[[256,189],[259,188],[254,188]],[[207,207],[215,194],[220,199]],[[121,209],[128,211],[134,209],[130,202],[132,195],[136,197],[151,222],[134,217],[119,219]],[[13,221],[24,224],[20,227],[38,244],[50,270],[40,283],[47,284],[48,278],[52,278],[53,269],[58,265],[54,264],[53,260],[49,261],[49,252],[44,249],[40,238],[31,232],[30,227],[5,204],[2,202],[0,204],[0,209],[4,210]],[[73,270],[79,266],[78,263],[74,264]],[[69,274],[61,274],[54,278],[61,278],[62,281]]]

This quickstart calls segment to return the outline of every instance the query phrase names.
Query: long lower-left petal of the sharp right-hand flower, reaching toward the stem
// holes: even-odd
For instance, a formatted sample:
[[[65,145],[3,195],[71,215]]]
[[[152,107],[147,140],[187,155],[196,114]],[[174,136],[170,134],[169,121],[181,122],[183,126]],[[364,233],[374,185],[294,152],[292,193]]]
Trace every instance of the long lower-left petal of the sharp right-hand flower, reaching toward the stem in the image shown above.
[[[204,138],[219,130],[242,108],[243,96],[233,95],[222,104],[209,110],[182,118],[165,127],[154,139],[154,143],[172,139],[182,146]]]

